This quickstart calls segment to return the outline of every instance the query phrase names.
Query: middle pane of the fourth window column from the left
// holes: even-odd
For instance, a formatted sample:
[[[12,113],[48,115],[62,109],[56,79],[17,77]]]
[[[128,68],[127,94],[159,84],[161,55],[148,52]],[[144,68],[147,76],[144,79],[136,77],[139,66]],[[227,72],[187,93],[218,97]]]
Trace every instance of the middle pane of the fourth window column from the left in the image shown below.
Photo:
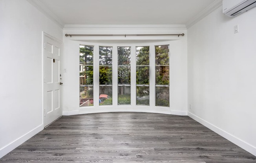
[[[149,85],[149,66],[136,67],[136,84]]]

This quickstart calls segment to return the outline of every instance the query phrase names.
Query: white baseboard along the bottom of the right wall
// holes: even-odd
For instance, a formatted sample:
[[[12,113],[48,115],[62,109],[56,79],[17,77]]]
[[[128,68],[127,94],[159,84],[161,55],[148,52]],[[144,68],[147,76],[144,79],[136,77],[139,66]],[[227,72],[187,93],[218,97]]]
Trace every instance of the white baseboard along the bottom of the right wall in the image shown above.
[[[238,145],[239,147],[241,147],[242,149],[246,150],[247,152],[250,152],[251,154],[253,154],[254,156],[256,156],[256,147],[246,143],[245,141],[236,138],[236,136],[229,134],[228,132],[219,129],[218,127],[212,125],[211,123],[209,123],[208,121],[203,120],[202,118],[196,116],[195,114],[192,114],[191,112],[188,112],[188,116],[194,120],[196,120],[197,122],[201,123],[202,125],[204,125],[205,127],[207,127],[208,129],[216,132],[217,134],[219,134],[220,136],[228,139],[229,141],[231,141],[232,143]]]

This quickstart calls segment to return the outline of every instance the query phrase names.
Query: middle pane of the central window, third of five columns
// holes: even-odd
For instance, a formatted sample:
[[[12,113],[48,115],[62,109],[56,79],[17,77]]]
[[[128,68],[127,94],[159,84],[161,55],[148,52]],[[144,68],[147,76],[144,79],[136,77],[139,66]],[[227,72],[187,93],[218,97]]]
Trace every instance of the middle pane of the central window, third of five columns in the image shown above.
[[[118,66],[118,84],[130,84],[130,83],[131,83],[131,67]]]

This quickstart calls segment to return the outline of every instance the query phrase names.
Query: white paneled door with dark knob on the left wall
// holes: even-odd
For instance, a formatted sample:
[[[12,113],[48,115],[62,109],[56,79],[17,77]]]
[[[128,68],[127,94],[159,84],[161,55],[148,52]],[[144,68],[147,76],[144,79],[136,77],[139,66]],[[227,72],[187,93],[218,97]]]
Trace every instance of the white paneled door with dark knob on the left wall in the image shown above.
[[[62,116],[62,43],[44,34],[44,127]]]

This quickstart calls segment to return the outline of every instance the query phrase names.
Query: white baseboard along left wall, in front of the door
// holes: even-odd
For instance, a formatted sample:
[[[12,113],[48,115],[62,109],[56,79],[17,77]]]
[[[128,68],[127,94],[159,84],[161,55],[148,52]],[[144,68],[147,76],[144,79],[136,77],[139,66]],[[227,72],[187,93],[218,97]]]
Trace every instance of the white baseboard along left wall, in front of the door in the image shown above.
[[[43,124],[39,125],[35,129],[28,132],[27,134],[21,136],[20,138],[16,139],[15,141],[9,143],[8,145],[6,145],[2,149],[0,149],[0,158],[2,158],[6,154],[8,154],[12,150],[14,150],[16,147],[18,147],[19,145],[21,145],[22,143],[24,143],[28,139],[32,138],[35,134],[42,131],[43,129],[44,129],[44,125]]]

